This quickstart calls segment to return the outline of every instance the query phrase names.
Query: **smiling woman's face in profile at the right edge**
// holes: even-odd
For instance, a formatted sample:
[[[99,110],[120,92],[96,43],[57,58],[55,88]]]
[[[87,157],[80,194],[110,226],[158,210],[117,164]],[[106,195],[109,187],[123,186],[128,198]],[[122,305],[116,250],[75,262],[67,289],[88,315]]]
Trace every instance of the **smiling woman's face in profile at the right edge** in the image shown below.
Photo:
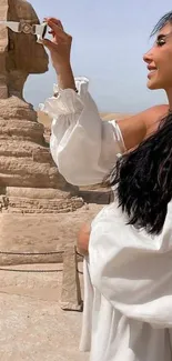
[[[148,64],[149,89],[172,89],[172,24],[166,23],[158,33],[154,46],[143,60]]]

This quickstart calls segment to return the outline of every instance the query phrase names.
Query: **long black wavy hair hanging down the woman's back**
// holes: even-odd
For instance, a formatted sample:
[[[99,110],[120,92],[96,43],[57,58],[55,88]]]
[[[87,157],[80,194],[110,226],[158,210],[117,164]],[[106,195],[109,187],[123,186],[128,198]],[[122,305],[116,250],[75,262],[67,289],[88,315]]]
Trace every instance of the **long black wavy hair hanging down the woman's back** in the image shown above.
[[[172,23],[172,12],[160,19],[152,34],[168,22]],[[117,161],[105,184],[117,184],[128,224],[152,234],[161,232],[172,199],[172,112],[161,120],[155,133]]]

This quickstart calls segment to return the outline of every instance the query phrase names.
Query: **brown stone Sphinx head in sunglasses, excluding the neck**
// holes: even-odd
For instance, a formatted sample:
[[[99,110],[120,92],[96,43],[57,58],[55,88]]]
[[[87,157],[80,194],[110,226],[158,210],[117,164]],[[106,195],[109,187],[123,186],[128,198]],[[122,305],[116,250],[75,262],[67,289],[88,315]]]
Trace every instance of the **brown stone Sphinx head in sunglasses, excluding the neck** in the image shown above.
[[[26,20],[30,24],[40,21],[32,6],[26,0],[6,0],[6,21]],[[6,69],[8,71],[23,71],[24,73],[44,73],[48,71],[48,54],[42,44],[37,42],[33,34],[17,33],[3,28],[6,39]],[[2,38],[2,31],[0,38]]]

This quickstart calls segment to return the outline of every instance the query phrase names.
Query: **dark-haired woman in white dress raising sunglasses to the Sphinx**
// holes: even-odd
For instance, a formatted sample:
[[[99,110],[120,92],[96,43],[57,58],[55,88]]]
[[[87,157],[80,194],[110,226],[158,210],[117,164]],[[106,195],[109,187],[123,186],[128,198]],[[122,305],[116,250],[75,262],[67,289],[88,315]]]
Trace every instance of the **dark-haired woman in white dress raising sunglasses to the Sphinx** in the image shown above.
[[[148,87],[164,89],[169,106],[119,123],[101,122],[87,80],[74,83],[70,36],[59,21],[48,22],[52,41],[44,46],[60,86],[58,97],[44,104],[54,118],[52,157],[71,183],[100,183],[105,178],[115,187],[115,201],[91,224],[81,349],[91,351],[91,361],[170,361],[172,12],[158,22],[156,41],[144,56]]]

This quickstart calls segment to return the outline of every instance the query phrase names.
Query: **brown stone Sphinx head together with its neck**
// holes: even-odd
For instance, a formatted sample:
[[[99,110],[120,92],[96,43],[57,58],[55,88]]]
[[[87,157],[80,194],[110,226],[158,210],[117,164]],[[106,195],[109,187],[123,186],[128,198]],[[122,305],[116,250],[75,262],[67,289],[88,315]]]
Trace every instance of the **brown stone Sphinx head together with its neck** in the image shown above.
[[[40,23],[36,11],[24,0],[0,1],[0,21],[6,20]],[[37,43],[36,36],[16,33],[3,24],[0,26],[0,99],[12,94],[22,98],[28,76],[48,70],[48,54]]]

